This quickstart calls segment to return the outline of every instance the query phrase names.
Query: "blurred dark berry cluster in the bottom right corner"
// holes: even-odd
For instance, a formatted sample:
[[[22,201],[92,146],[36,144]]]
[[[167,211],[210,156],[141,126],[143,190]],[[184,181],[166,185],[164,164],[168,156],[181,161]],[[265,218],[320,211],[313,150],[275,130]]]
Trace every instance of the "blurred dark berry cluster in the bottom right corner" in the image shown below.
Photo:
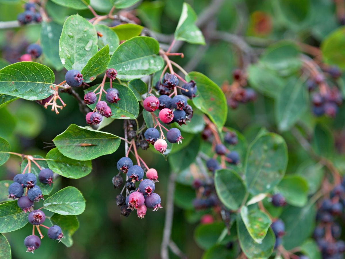
[[[344,217],[345,181],[333,188],[330,199],[319,204],[316,220],[319,222],[314,230],[315,238],[323,258],[343,258],[345,242],[339,240],[341,226],[336,222]]]

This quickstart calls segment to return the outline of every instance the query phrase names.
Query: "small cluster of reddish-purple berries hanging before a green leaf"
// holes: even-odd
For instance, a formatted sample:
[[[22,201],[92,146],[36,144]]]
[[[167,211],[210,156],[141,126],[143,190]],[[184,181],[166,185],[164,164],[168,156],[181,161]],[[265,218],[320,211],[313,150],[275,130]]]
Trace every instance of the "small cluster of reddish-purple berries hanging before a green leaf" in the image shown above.
[[[114,80],[117,76],[117,72],[113,68],[109,68],[106,72],[106,75],[110,80]],[[94,91],[95,92],[95,91]],[[97,100],[97,94],[94,92],[88,92],[84,96],[84,103],[86,104],[94,104]],[[98,93],[99,95],[102,94],[102,92]],[[111,87],[106,90],[106,100],[108,103],[117,103],[119,98],[119,90],[116,88]],[[103,116],[106,118],[109,118],[111,113],[111,108],[108,106],[108,104],[104,101],[98,101],[96,104],[96,110],[97,112],[89,112],[86,115],[86,123],[89,125],[97,125],[100,124],[102,121]]]

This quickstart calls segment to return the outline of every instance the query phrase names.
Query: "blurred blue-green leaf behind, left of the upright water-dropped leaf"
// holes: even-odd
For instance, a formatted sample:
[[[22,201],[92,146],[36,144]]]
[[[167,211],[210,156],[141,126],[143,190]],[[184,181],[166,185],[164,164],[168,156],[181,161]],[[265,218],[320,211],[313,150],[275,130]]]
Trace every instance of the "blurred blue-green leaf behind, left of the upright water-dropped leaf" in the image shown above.
[[[42,22],[40,35],[42,52],[56,70],[61,70],[63,68],[59,56],[59,39],[61,32],[61,25],[54,22]]]

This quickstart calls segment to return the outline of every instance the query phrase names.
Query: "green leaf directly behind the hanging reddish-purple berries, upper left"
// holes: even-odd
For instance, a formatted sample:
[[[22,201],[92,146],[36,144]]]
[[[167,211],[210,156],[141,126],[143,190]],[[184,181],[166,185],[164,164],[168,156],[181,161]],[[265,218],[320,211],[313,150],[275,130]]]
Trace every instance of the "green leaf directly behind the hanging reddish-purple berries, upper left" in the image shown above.
[[[135,119],[138,117],[139,114],[139,103],[137,98],[135,97],[134,93],[129,87],[124,85],[112,83],[112,87],[119,90],[119,100],[116,103],[108,103],[108,106],[111,109],[112,115],[111,118],[113,119]],[[97,88],[96,86],[90,87],[85,90],[85,94],[88,92],[92,92]],[[110,83],[104,84],[104,90],[110,88]],[[106,101],[105,94],[102,94],[101,100]],[[94,109],[96,104],[88,105],[90,109]],[[157,115],[158,116],[158,115]]]

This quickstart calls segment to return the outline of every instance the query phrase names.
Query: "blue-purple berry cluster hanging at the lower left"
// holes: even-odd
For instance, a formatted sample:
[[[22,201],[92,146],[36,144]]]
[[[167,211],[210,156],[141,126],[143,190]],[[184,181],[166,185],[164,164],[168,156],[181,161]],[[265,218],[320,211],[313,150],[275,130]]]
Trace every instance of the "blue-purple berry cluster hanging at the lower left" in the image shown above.
[[[51,171],[49,168],[42,169],[38,174],[38,180],[42,184],[51,185],[53,183],[53,171]],[[40,199],[43,199],[42,191],[39,186],[36,185],[36,183],[36,175],[32,173],[25,173],[24,171],[22,174],[17,174],[14,176],[13,183],[8,188],[9,199],[18,199],[18,207],[21,208],[24,213],[29,212],[28,221],[33,225],[33,233],[24,239],[24,245],[27,247],[27,252],[32,253],[41,245],[41,239],[34,235],[35,226],[41,238],[43,238],[43,235],[39,229],[39,226],[48,229],[48,237],[50,239],[60,241],[61,238],[63,238],[63,234],[59,226],[52,226],[49,228],[43,225],[44,221],[46,220],[46,215],[43,211],[40,209],[33,210],[34,202],[38,202]]]

